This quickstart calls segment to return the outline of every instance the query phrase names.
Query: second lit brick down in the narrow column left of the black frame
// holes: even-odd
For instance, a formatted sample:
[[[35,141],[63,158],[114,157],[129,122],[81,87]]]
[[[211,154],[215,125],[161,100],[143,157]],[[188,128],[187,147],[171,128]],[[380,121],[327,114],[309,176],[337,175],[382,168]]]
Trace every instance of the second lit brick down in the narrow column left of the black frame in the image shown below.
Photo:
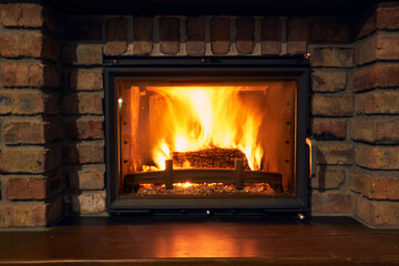
[[[75,69],[72,71],[71,90],[99,91],[102,88],[102,69]]]

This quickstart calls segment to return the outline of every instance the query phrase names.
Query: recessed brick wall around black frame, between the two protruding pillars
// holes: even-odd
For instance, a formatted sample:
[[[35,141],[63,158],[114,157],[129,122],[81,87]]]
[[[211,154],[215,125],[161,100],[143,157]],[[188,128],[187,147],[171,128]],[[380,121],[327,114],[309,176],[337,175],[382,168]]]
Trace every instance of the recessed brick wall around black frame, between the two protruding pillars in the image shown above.
[[[315,214],[350,214],[351,192],[347,182],[354,163],[354,143],[347,126],[354,115],[355,66],[350,21],[350,18],[69,18],[70,42],[63,55],[71,83],[63,112],[73,114],[70,141],[73,153],[64,157],[72,184],[69,194],[72,212],[104,211],[103,156],[95,154],[103,146],[99,122],[103,116],[102,110],[95,108],[101,106],[101,99],[96,103],[94,100],[102,95],[99,91],[102,54],[234,57],[311,52],[311,127],[320,150],[318,176],[311,182],[313,209]],[[71,99],[78,99],[73,110]],[[91,133],[89,122],[99,125]],[[76,185],[82,183],[85,186]]]

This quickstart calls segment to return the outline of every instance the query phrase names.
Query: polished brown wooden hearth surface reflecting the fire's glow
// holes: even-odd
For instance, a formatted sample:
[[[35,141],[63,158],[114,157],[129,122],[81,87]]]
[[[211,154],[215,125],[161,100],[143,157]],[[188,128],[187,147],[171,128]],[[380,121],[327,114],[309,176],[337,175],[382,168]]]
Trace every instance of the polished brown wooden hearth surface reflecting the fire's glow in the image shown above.
[[[399,229],[348,217],[70,218],[1,231],[0,265],[399,265]]]

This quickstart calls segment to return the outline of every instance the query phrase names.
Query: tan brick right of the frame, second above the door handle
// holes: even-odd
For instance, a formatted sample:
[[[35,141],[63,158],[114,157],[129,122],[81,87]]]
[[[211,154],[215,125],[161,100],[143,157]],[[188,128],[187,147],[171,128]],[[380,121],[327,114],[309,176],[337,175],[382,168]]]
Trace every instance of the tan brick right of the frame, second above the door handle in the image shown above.
[[[351,116],[352,98],[316,94],[311,98],[311,114],[317,116]]]

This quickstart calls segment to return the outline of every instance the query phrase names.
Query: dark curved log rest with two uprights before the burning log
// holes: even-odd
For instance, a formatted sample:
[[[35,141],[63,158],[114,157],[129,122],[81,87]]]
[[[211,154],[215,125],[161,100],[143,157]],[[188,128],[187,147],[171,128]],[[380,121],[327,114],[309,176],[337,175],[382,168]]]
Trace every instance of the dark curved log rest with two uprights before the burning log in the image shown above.
[[[222,183],[224,185],[234,184],[234,188],[241,191],[245,188],[244,184],[267,183],[275,192],[282,191],[282,174],[262,171],[246,171],[244,170],[243,164],[243,160],[236,160],[234,170],[174,170],[173,161],[165,160],[165,171],[129,174],[124,177],[124,184],[127,187],[136,187],[141,184],[164,184],[166,190],[173,190],[174,184],[176,183]]]

